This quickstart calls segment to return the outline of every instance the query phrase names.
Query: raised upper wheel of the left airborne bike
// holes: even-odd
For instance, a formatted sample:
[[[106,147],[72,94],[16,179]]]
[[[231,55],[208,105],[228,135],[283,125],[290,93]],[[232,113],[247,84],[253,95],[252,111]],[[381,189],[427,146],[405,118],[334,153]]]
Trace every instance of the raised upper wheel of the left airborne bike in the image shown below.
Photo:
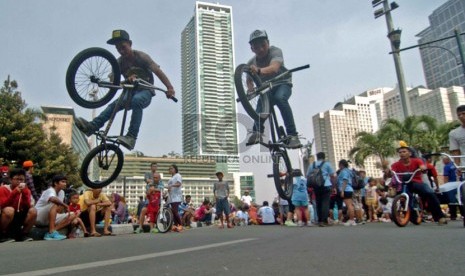
[[[114,76],[113,80],[110,75]],[[118,61],[112,53],[103,48],[88,48],[71,60],[66,71],[66,89],[76,104],[99,108],[107,104],[118,89],[99,87],[91,78],[119,85],[120,75]]]

